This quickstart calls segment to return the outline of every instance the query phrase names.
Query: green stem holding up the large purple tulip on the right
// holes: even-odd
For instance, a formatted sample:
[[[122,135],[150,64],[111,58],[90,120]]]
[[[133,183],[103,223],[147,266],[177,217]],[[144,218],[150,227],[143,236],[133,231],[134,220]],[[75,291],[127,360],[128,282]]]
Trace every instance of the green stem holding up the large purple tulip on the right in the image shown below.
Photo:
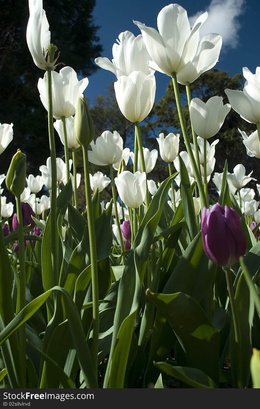
[[[238,319],[238,314],[237,314],[237,307],[235,303],[235,297],[234,297],[234,292],[233,292],[233,283],[231,280],[231,272],[230,268],[227,267],[225,269],[225,274],[226,274],[226,283],[228,287],[228,297],[231,305],[231,311],[232,311],[232,317],[233,317],[233,326],[234,326],[234,332],[235,332],[235,342],[237,344],[237,350],[238,350],[238,387],[243,388],[243,381],[242,381],[242,344],[241,344],[241,332],[240,332],[240,325],[239,325],[239,319]]]

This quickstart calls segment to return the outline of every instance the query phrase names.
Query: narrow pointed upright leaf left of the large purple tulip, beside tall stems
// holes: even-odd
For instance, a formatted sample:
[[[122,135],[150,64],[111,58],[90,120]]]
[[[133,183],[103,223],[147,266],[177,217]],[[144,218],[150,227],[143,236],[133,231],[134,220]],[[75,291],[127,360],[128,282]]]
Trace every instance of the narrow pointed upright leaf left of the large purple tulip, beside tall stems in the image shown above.
[[[181,193],[183,200],[183,213],[186,224],[186,230],[190,242],[198,234],[197,221],[195,216],[194,202],[192,198],[192,189],[190,187],[190,178],[183,162],[179,155],[180,175],[181,175]]]

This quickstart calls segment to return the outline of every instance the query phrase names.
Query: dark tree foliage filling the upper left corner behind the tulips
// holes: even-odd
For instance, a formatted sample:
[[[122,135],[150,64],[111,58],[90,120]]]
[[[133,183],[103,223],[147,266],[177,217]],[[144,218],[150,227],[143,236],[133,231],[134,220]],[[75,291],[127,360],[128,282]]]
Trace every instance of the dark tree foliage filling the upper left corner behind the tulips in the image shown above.
[[[102,52],[93,19],[96,0],[43,0],[50,24],[51,41],[61,52],[59,61],[78,75],[97,70],[95,57]],[[7,171],[12,155],[21,148],[27,155],[29,173],[37,174],[50,155],[47,112],[37,83],[44,71],[34,65],[26,42],[29,18],[27,0],[0,0],[0,122],[14,124],[14,140],[1,155],[0,173]],[[62,68],[59,65],[56,70]],[[57,152],[61,142],[55,132]],[[62,152],[62,150],[61,150]]]

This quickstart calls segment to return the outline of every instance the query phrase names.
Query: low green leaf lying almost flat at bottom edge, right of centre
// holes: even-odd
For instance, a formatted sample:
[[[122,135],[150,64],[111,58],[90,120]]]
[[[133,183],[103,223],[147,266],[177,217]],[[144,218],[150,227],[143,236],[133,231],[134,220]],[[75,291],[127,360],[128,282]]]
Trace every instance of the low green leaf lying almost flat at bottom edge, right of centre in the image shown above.
[[[167,362],[154,362],[154,365],[161,371],[189,385],[192,388],[216,388],[213,380],[203,371],[185,366],[173,366]]]

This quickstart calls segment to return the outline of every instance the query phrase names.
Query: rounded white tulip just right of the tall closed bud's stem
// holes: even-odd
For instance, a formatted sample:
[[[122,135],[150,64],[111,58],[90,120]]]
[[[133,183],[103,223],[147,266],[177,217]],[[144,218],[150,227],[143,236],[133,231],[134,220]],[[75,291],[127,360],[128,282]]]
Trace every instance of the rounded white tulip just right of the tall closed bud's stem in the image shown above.
[[[92,151],[88,151],[88,160],[95,165],[106,166],[121,160],[123,139],[116,130],[113,133],[105,130],[95,142],[90,142],[90,146]]]

